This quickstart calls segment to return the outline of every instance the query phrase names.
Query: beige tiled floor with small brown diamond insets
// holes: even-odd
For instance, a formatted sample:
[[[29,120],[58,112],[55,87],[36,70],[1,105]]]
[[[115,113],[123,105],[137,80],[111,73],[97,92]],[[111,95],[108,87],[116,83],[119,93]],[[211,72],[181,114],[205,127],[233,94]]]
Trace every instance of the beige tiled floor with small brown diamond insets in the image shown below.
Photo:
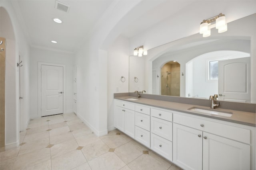
[[[30,120],[0,170],[180,170],[118,130],[97,137],[74,114]]]

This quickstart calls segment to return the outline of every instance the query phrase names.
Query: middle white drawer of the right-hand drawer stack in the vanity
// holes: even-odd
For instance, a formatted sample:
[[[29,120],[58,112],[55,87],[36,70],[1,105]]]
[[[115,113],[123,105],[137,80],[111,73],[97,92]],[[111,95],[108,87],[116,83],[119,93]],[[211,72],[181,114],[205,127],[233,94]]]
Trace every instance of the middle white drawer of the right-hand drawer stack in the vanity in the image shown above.
[[[172,141],[172,122],[151,117],[151,132]]]

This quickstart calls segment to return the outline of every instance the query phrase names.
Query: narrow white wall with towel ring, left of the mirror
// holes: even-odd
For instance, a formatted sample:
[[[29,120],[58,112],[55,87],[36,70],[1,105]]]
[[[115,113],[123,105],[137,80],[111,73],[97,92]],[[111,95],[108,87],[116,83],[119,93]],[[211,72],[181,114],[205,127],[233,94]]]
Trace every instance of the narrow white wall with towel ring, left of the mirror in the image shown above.
[[[114,93],[129,90],[129,41],[118,37],[108,49],[108,131],[114,129]],[[125,82],[121,81],[125,77]]]

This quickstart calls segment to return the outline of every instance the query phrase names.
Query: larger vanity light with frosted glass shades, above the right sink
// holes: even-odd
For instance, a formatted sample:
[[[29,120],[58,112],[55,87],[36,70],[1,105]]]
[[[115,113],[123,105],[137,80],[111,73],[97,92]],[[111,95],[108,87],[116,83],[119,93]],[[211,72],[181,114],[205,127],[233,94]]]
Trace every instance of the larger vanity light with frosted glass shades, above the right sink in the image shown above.
[[[218,33],[223,33],[228,30],[226,17],[224,14],[220,13],[217,16],[203,20],[200,24],[200,34],[203,34],[203,37],[209,37],[211,35],[211,29],[216,27]]]

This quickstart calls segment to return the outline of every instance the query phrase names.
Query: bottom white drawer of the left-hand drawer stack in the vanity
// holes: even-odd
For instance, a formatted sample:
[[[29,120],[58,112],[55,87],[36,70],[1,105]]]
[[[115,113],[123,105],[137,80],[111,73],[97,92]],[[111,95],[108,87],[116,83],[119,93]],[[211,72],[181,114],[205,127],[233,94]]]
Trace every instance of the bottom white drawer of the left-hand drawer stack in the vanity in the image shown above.
[[[135,139],[150,148],[150,132],[135,126]]]

